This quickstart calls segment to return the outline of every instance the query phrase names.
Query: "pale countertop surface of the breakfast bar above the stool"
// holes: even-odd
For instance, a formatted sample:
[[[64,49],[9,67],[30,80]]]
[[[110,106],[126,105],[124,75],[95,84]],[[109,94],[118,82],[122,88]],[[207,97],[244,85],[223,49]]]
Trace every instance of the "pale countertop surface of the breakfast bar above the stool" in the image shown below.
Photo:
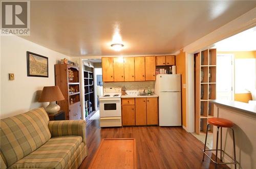
[[[256,115],[256,106],[250,105],[248,103],[228,100],[211,100],[210,103],[226,106],[228,108],[233,108],[236,110],[246,112],[248,114]]]

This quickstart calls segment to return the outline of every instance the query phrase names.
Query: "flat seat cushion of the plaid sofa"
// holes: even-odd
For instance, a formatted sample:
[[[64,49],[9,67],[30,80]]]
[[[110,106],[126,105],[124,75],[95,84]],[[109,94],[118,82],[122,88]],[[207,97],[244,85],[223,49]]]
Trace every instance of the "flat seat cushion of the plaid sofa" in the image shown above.
[[[65,168],[72,164],[70,159],[76,159],[83,147],[81,136],[53,137],[10,168]]]

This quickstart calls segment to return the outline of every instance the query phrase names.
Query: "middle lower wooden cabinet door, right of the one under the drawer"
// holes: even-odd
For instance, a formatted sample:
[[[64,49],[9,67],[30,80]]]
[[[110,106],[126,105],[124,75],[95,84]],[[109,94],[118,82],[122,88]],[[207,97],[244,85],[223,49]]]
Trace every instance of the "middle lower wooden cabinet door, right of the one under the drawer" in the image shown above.
[[[146,125],[146,98],[135,98],[135,124]]]

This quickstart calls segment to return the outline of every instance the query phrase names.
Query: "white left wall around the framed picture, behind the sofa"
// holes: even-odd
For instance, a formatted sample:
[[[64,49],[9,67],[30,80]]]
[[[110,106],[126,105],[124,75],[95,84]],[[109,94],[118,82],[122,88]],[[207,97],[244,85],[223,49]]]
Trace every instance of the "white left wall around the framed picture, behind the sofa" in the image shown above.
[[[49,77],[27,76],[27,51],[48,57]],[[54,86],[54,64],[67,55],[17,36],[1,37],[1,116],[7,118],[42,106],[37,102],[44,86]],[[8,80],[14,73],[15,80]]]

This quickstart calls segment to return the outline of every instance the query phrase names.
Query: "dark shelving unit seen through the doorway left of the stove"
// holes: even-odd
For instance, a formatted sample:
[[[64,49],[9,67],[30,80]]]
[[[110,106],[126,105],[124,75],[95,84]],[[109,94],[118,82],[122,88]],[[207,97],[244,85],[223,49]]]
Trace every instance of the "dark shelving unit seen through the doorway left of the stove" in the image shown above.
[[[93,68],[88,67],[86,65],[83,65],[83,70],[84,70],[83,71],[84,110],[88,110],[88,115],[90,115],[95,110],[94,73],[93,73]]]

